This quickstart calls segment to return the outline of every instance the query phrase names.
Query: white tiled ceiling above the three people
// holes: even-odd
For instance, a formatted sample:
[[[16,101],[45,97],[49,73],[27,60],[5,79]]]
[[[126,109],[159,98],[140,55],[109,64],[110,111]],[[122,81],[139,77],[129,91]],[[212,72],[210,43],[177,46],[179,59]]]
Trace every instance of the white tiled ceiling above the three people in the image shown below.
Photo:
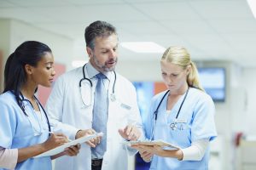
[[[95,20],[117,27],[120,42],[182,45],[192,59],[256,66],[256,20],[246,0],[0,0],[0,17],[71,37],[84,57],[84,28]],[[119,48],[124,59],[159,59]]]

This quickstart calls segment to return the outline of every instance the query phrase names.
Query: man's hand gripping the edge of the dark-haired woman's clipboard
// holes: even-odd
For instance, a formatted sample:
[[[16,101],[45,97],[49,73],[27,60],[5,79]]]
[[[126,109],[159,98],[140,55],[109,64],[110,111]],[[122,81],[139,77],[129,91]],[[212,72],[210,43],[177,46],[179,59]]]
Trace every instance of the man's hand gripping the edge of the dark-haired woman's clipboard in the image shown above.
[[[79,130],[77,133],[76,133],[76,136],[75,136],[75,139],[79,139],[83,136],[88,136],[90,134],[94,134],[96,133],[95,130],[93,130],[92,128],[90,129],[86,129],[86,130]],[[101,139],[102,137],[96,137],[94,139],[90,139],[89,141],[85,142],[86,144],[90,145],[90,147],[93,147],[95,148],[97,144],[100,144],[101,142]]]

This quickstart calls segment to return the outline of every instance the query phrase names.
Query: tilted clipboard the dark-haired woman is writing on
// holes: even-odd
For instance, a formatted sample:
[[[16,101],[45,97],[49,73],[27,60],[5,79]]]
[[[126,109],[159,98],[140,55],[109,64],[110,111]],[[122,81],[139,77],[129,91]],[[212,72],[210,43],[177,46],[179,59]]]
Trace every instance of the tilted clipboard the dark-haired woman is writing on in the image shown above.
[[[65,150],[65,148],[68,148],[69,146],[72,146],[72,145],[75,145],[75,144],[83,144],[84,142],[86,142],[90,139],[94,139],[94,138],[99,137],[99,136],[103,136],[103,133],[94,133],[94,134],[91,134],[91,135],[88,135],[88,136],[81,137],[79,139],[72,140],[71,142],[67,142],[66,144],[62,144],[61,146],[55,147],[52,150],[48,150],[48,151],[46,151],[46,152],[44,152],[44,153],[42,153],[38,156],[33,156],[33,158],[44,157],[44,156],[54,156],[56,154],[61,153],[62,151]]]

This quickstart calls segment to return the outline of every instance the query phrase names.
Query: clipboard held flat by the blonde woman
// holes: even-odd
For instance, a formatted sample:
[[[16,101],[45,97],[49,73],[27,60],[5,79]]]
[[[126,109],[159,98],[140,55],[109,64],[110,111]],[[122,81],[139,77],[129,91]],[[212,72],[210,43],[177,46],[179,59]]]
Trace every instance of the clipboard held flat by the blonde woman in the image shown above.
[[[178,147],[177,145],[175,144],[170,144],[164,140],[161,140],[161,139],[157,139],[157,140],[139,140],[139,141],[126,141],[125,144],[128,144],[128,145],[148,145],[148,146],[153,146],[153,145],[159,145],[160,147],[169,147],[169,148],[172,148],[172,149],[180,149],[180,147]]]

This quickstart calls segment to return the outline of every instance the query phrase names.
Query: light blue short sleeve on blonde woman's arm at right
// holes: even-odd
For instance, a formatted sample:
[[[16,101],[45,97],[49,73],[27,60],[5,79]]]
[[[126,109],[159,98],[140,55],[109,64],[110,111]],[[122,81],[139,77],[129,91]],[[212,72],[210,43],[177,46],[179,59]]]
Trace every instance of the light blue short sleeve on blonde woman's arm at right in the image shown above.
[[[212,99],[206,94],[195,105],[191,122],[191,140],[209,139],[217,136],[214,122],[215,106]]]

